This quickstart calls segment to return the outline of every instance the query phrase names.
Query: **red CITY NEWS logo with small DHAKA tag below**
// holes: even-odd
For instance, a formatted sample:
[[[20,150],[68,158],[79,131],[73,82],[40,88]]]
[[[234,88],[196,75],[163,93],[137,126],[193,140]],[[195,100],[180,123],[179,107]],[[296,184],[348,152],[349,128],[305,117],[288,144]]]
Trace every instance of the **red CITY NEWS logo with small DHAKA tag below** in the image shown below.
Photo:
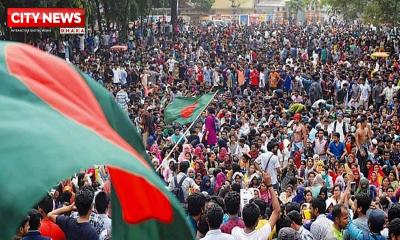
[[[10,28],[60,28],[61,34],[85,33],[83,8],[8,8]]]

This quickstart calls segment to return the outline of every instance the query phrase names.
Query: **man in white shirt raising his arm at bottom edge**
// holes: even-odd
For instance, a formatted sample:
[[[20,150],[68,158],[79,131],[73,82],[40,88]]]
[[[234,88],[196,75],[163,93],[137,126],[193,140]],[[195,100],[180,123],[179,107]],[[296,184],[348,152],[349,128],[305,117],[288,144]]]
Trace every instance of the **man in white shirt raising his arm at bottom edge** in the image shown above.
[[[235,240],[264,240],[268,239],[274,229],[280,215],[280,206],[278,197],[275,194],[271,184],[271,176],[268,173],[263,174],[264,184],[271,194],[271,203],[273,212],[268,223],[256,230],[260,218],[260,209],[255,203],[246,204],[242,210],[242,218],[245,228],[234,227],[232,236]]]

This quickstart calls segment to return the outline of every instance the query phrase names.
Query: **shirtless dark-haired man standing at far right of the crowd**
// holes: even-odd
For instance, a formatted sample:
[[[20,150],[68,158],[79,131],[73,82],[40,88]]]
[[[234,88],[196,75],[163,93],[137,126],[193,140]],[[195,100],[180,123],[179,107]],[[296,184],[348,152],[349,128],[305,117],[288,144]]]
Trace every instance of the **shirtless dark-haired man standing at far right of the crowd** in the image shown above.
[[[368,176],[366,163],[368,158],[369,145],[371,145],[371,125],[368,124],[367,117],[364,115],[361,116],[360,122],[357,125],[358,127],[356,131],[356,146],[358,164],[360,165],[361,172],[364,174],[364,176]]]

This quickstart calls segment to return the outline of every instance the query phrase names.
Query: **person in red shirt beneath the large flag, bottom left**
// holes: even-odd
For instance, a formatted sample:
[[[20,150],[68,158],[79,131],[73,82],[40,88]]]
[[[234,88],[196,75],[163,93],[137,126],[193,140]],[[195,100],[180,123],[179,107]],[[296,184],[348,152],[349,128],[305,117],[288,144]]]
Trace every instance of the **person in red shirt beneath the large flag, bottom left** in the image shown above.
[[[47,217],[47,214],[53,211],[53,198],[49,195],[45,196],[38,205],[38,210],[42,215],[39,232],[44,237],[49,237],[52,240],[65,240],[64,232]]]

